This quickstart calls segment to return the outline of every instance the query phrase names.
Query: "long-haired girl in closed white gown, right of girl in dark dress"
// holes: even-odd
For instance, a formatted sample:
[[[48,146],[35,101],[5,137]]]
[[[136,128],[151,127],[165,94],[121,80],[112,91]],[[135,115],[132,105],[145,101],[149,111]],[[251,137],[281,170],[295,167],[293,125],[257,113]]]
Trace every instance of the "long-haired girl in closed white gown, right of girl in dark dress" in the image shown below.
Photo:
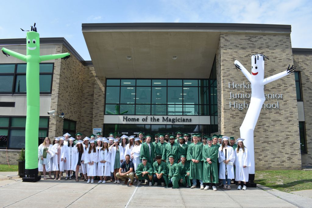
[[[85,163],[87,164],[87,183],[94,183],[94,177],[96,176],[96,167],[95,163],[97,161],[97,151],[95,149],[94,140],[90,140],[90,147],[86,150],[85,154]]]

